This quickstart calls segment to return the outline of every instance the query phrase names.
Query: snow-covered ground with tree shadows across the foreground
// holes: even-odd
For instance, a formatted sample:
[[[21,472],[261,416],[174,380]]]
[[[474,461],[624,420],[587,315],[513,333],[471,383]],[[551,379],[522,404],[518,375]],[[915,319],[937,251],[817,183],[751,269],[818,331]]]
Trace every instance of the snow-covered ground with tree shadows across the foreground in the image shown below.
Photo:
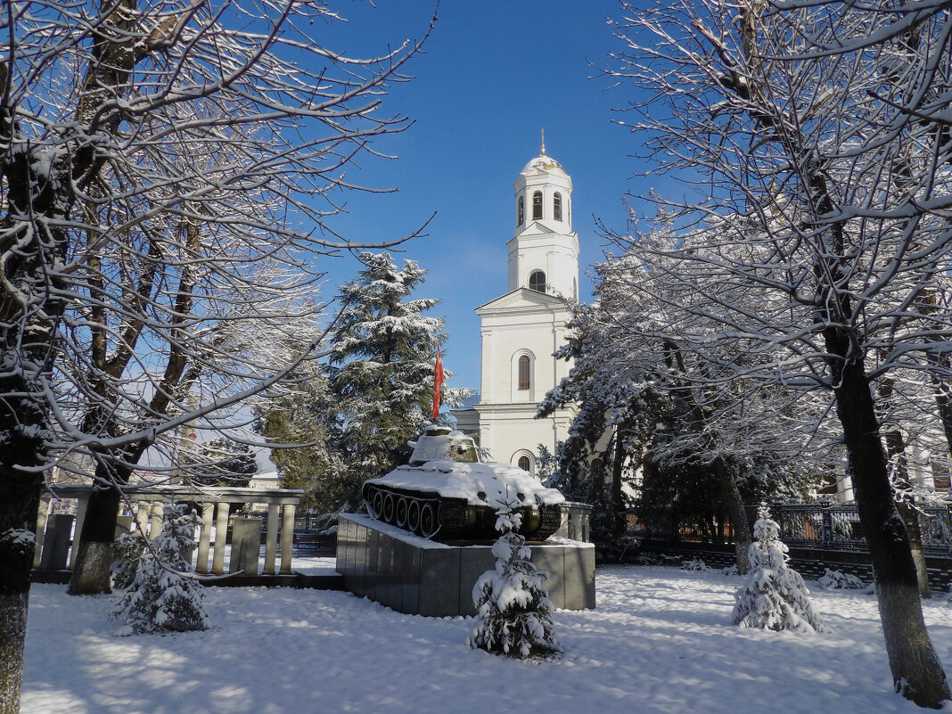
[[[565,654],[543,664],[467,648],[471,619],[344,592],[210,587],[212,629],[123,638],[112,598],[33,585],[22,714],[922,711],[892,692],[872,595],[808,583],[833,631],[795,635],[731,625],[741,580],[719,571],[611,566],[596,582],[597,609],[555,613]],[[924,610],[952,667],[952,605]]]

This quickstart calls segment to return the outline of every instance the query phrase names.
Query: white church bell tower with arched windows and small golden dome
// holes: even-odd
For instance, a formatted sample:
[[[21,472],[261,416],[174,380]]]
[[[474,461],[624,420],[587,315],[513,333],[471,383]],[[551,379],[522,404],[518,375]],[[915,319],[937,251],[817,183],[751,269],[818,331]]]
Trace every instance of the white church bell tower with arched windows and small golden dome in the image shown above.
[[[476,308],[482,320],[480,401],[453,415],[494,461],[536,473],[539,445],[554,452],[572,418],[567,408],[545,419],[535,414],[571,368],[552,353],[565,344],[565,300],[579,297],[579,238],[572,230],[572,180],[545,155],[545,141],[514,186],[508,292]]]

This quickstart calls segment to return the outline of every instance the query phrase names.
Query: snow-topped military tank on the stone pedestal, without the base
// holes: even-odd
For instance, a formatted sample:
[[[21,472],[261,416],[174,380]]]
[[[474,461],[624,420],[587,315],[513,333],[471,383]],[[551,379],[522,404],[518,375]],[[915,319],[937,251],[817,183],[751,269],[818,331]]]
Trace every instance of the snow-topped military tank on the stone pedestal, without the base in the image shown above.
[[[491,538],[497,508],[515,501],[526,538],[545,540],[559,529],[562,493],[517,466],[480,462],[466,434],[431,425],[410,446],[407,466],[364,484],[373,518],[438,541]]]

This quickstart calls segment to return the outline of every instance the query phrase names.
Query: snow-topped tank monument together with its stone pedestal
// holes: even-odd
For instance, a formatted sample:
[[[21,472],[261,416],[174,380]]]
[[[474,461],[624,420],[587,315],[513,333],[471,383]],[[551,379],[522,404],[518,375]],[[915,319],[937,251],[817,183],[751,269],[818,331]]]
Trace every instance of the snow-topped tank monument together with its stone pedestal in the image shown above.
[[[595,606],[593,545],[552,537],[568,509],[521,468],[479,460],[473,440],[427,426],[406,466],[364,485],[367,515],[341,514],[337,570],[350,592],[399,612],[472,615],[472,586],[495,565],[496,508],[515,501],[532,562],[556,607]]]

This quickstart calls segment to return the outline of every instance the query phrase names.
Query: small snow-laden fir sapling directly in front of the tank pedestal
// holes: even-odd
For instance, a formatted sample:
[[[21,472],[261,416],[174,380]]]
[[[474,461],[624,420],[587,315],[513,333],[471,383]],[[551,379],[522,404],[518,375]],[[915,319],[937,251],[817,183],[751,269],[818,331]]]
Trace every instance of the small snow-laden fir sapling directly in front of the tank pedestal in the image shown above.
[[[562,651],[552,625],[552,601],[544,581],[548,573],[529,561],[531,550],[517,531],[522,514],[513,502],[500,504],[492,546],[496,568],[486,570],[473,586],[478,613],[466,644],[509,657],[549,657]]]

